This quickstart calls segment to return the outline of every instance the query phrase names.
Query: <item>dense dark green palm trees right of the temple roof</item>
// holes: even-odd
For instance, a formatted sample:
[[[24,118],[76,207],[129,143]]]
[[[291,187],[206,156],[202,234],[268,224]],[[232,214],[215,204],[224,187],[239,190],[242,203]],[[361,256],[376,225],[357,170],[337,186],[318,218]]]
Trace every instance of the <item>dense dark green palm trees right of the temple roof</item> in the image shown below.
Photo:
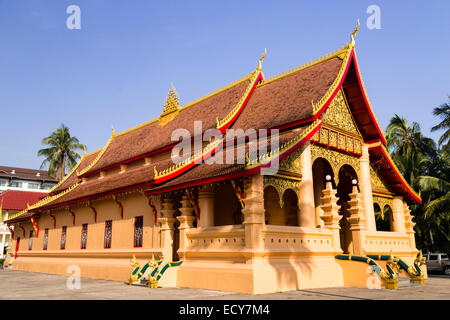
[[[436,143],[420,131],[420,125],[395,115],[386,130],[392,158],[408,183],[420,192],[422,204],[411,205],[418,246],[428,251],[450,249],[448,209],[448,161]]]

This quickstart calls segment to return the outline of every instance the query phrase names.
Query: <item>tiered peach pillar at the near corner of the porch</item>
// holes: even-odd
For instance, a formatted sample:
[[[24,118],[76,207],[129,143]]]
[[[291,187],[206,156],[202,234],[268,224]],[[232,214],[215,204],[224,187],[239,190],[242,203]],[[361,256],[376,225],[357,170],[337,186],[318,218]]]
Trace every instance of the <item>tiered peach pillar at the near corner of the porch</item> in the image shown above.
[[[244,215],[245,246],[252,251],[262,250],[261,230],[264,227],[264,183],[263,176],[256,174],[244,182],[245,208]]]

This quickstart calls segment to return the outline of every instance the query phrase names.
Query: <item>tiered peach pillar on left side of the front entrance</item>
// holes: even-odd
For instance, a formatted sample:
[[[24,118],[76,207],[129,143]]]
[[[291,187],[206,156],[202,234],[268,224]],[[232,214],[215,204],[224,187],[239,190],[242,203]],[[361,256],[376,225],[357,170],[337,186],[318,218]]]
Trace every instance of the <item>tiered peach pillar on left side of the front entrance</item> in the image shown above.
[[[338,198],[336,197],[336,192],[337,191],[333,189],[330,179],[327,181],[325,189],[322,191],[322,205],[320,207],[323,211],[323,215],[321,216],[321,219],[324,221],[325,228],[329,229],[333,234],[333,248],[335,248],[337,252],[342,252],[339,237],[339,230],[341,229],[339,221],[342,219],[342,216],[339,215],[340,206],[337,205]]]

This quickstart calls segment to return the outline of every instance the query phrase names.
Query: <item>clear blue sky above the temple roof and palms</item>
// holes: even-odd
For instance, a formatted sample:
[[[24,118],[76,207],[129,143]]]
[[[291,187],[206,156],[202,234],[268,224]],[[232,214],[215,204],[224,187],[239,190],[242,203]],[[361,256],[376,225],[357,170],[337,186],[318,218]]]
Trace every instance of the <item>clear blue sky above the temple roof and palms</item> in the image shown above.
[[[69,30],[69,5],[81,30]],[[370,30],[369,5],[381,9]],[[394,113],[430,133],[450,94],[449,1],[0,0],[0,164],[38,168],[61,123],[101,148],[158,116],[173,83],[190,102],[251,72],[266,77],[349,41],[384,130]],[[205,110],[207,112],[207,110]],[[255,115],[257,116],[257,115]]]

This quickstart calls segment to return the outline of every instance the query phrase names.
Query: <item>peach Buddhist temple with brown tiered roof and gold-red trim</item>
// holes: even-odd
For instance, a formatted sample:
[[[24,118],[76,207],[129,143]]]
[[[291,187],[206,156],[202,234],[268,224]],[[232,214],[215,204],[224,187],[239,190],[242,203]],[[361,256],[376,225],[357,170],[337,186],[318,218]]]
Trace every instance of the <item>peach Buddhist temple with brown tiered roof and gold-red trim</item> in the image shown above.
[[[82,276],[127,281],[133,256],[154,256],[182,261],[167,286],[266,293],[365,287],[367,265],[339,255],[392,253],[412,264],[408,206],[421,199],[386,149],[355,34],[272,78],[263,56],[185,105],[171,87],[158,118],[113,129],[46,198],[9,216],[13,268],[67,274],[77,265]],[[194,150],[178,162],[176,130]],[[245,136],[229,139],[230,130]]]

